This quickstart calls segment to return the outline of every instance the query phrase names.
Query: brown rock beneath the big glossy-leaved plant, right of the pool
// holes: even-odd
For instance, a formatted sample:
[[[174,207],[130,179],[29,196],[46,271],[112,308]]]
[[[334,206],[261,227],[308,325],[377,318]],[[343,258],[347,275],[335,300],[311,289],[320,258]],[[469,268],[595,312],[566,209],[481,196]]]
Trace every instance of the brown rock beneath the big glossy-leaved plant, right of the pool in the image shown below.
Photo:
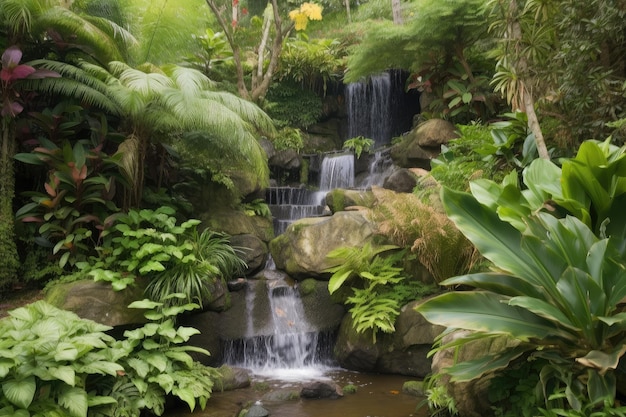
[[[447,344],[455,338],[467,335],[469,331],[458,330],[446,335],[442,343]],[[504,349],[514,347],[519,340],[505,336],[478,339],[463,345],[460,349],[450,348],[438,351],[433,356],[432,373],[439,374],[442,370],[454,363],[465,362],[485,355],[495,355]],[[463,417],[483,417],[490,415],[491,404],[488,401],[489,381],[491,377],[484,375],[468,382],[451,382],[450,377],[443,375],[438,384],[445,384],[448,394],[454,398],[459,415]]]

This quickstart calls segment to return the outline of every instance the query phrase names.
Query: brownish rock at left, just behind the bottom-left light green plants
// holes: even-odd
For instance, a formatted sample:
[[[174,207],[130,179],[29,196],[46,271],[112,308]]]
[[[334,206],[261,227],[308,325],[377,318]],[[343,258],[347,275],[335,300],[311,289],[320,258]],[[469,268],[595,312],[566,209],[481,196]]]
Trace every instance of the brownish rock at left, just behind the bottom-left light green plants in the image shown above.
[[[55,307],[76,313],[79,317],[107,326],[127,326],[146,322],[144,311],[128,308],[133,301],[144,298],[147,280],[137,279],[135,285],[114,291],[109,282],[84,279],[54,285],[46,301]]]

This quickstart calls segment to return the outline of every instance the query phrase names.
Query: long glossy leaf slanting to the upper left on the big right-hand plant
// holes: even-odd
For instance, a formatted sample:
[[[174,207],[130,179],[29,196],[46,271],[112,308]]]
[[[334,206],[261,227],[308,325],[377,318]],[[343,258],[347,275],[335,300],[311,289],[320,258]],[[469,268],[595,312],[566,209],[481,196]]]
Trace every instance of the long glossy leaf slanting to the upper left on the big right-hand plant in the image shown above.
[[[472,195],[444,188],[442,202],[450,219],[498,268],[542,285],[541,271],[521,250],[521,233],[481,205]]]

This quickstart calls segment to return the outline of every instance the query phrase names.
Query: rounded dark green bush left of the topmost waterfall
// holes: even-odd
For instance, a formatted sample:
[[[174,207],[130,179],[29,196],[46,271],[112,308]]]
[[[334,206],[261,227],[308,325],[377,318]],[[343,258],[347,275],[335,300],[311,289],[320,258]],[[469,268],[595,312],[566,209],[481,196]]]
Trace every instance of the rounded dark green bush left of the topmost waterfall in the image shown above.
[[[278,127],[306,129],[322,115],[322,99],[292,81],[273,83],[267,92],[264,109]]]

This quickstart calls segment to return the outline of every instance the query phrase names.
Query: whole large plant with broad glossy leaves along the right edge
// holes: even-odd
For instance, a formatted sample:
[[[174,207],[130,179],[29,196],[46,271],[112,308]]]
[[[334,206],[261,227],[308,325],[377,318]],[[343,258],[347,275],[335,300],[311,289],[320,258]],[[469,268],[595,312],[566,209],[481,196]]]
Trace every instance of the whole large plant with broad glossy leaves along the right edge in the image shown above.
[[[524,172],[527,190],[516,176],[502,187],[483,181],[473,195],[443,190],[446,212],[495,269],[450,278],[442,285],[476,290],[417,307],[433,323],[472,331],[437,349],[501,335],[521,342],[448,368],[453,381],[498,372],[526,355],[547,362],[541,385],[548,408],[561,389],[563,405],[574,411],[613,406],[614,371],[626,352],[618,307],[626,296],[626,229],[611,204],[623,204],[623,155],[608,142],[588,141],[562,172],[533,162]]]

